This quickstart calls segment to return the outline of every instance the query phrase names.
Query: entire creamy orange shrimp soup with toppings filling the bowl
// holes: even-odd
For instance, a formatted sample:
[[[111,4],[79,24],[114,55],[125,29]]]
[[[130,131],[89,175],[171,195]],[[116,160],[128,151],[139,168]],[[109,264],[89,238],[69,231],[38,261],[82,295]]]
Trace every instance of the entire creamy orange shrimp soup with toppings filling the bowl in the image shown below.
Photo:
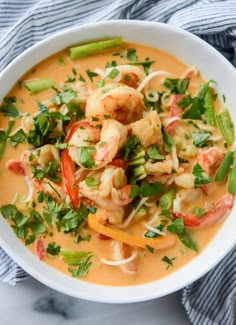
[[[122,286],[204,249],[232,208],[236,167],[214,82],[158,49],[113,45],[63,50],[6,96],[0,203],[37,258]]]

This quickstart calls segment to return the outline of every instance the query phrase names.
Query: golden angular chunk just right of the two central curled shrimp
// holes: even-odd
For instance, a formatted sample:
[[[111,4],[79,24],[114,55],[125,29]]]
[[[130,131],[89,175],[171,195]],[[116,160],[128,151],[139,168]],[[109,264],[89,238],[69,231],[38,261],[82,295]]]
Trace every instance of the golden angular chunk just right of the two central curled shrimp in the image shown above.
[[[129,128],[132,130],[132,133],[140,139],[145,148],[154,143],[158,143],[162,147],[161,120],[156,111],[130,124]]]

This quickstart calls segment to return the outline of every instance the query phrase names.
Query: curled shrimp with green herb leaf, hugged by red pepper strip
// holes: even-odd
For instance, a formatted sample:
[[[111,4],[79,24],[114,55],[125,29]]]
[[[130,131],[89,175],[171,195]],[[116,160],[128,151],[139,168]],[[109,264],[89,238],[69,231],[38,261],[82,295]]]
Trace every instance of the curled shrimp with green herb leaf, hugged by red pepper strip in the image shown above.
[[[115,120],[105,120],[101,131],[89,122],[84,123],[68,141],[69,156],[83,168],[103,168],[113,160],[126,134],[126,127]]]

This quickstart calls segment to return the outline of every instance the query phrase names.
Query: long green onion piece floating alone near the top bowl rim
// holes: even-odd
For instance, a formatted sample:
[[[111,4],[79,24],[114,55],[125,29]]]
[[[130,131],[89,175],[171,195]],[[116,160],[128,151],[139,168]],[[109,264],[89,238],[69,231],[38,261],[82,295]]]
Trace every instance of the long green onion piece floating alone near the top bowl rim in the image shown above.
[[[86,58],[87,56],[96,54],[97,52],[119,47],[122,43],[122,38],[114,38],[106,41],[99,41],[71,47],[69,49],[70,58],[71,60]]]

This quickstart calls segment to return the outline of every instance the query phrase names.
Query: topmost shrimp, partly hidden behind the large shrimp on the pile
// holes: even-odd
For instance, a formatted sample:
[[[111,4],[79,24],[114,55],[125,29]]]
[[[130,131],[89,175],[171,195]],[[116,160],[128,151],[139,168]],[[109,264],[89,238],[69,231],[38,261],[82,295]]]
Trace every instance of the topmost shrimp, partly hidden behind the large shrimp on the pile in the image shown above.
[[[105,81],[120,82],[130,87],[137,88],[138,83],[146,78],[145,72],[135,65],[123,64],[115,67],[119,71],[119,74],[114,78],[108,78],[109,74],[114,68],[107,68],[104,74]]]

